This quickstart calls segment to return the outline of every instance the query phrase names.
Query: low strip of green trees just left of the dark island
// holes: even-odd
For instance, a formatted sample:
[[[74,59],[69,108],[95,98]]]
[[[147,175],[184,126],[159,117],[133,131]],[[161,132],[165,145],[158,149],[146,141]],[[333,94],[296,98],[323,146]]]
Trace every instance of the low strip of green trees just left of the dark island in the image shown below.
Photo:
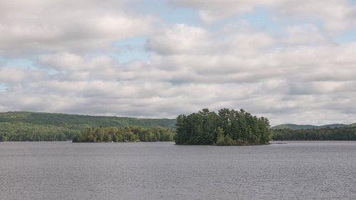
[[[100,127],[88,128],[73,136],[73,143],[102,143],[102,142],[156,142],[172,141],[174,131],[170,128],[142,128],[130,126],[125,128]]]

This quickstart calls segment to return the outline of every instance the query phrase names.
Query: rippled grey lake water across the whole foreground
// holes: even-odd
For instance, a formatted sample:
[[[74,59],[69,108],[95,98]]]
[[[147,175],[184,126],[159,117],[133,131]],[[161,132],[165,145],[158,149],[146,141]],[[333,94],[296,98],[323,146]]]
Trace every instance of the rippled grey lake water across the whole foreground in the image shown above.
[[[356,142],[0,143],[0,199],[356,199]]]

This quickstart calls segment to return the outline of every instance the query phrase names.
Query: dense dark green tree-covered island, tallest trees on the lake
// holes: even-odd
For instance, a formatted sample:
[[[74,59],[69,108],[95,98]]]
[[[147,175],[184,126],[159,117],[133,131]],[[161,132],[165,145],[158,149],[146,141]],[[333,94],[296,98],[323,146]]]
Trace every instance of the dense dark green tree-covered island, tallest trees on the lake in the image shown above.
[[[220,109],[218,113],[203,109],[189,116],[177,117],[177,145],[252,145],[271,139],[267,118],[257,118],[243,109]]]

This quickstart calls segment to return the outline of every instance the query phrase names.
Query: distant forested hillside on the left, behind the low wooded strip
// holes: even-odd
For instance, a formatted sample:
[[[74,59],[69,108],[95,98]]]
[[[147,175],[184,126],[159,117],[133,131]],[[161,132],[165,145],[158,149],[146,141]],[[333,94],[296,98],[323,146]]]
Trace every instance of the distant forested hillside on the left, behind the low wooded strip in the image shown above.
[[[0,113],[0,141],[63,141],[88,128],[174,128],[175,119],[83,116],[61,113]]]

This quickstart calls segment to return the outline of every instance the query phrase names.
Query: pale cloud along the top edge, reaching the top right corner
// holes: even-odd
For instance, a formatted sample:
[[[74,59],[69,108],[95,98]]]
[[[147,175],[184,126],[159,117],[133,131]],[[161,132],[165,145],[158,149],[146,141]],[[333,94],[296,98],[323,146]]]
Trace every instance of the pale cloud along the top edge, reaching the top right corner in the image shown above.
[[[225,18],[235,18],[244,13],[251,13],[256,8],[264,8],[278,13],[277,21],[285,20],[281,16],[320,20],[324,23],[325,30],[330,33],[340,33],[356,25],[356,7],[351,6],[347,0],[171,0],[169,2],[174,6],[196,9],[201,21],[208,24],[216,23]]]

